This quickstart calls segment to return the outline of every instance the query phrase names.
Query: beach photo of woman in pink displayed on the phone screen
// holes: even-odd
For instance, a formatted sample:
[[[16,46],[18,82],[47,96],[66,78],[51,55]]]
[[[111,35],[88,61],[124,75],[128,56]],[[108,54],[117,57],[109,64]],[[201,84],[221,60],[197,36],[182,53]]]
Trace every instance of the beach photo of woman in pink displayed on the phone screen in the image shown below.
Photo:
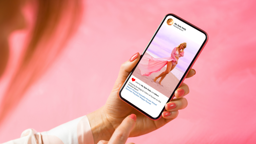
[[[200,45],[168,24],[161,26],[132,75],[169,98]]]

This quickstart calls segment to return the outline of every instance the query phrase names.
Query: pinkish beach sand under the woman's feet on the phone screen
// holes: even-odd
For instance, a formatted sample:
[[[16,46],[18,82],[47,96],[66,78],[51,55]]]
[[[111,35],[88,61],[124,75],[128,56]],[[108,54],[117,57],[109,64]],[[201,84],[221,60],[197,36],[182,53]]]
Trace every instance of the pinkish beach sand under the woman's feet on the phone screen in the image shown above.
[[[149,55],[149,54],[145,53],[145,55]],[[156,83],[153,81],[153,79],[156,76],[158,76],[165,70],[166,70],[166,67],[163,67],[158,73],[153,73],[149,77],[147,77],[147,76],[141,76],[140,69],[138,67],[136,67],[136,69],[134,70],[132,75],[134,75],[135,77],[137,77],[138,79],[140,79],[141,81],[146,83],[147,85],[151,86],[152,88],[161,92],[163,95],[165,95],[166,97],[169,98],[171,96],[171,94],[173,93],[174,89],[176,88],[176,86],[178,85],[179,80],[172,73],[169,73],[166,75],[166,77],[163,79],[163,81],[161,83],[163,86],[161,86],[158,83],[158,81],[161,78],[158,78],[156,80]]]

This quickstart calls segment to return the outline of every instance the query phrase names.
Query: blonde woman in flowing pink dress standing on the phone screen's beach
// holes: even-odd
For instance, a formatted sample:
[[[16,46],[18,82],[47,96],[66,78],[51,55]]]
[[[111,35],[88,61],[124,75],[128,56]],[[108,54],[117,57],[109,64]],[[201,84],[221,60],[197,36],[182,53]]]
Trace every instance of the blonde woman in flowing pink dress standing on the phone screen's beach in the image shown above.
[[[161,77],[158,83],[162,85],[161,81],[178,64],[178,59],[184,56],[184,49],[186,47],[187,43],[181,43],[178,47],[173,49],[170,57],[153,58],[151,56],[144,55],[138,64],[138,67],[141,70],[141,75],[150,76],[152,73],[159,72],[165,65],[167,65],[166,70],[154,78],[154,81],[156,82],[156,80]]]

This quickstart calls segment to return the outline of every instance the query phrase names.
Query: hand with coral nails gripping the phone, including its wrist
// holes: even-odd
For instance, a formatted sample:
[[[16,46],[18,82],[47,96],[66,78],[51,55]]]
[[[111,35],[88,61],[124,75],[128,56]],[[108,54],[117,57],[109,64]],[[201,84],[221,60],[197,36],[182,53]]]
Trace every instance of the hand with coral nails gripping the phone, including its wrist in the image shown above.
[[[119,90],[139,59],[140,54],[136,53],[130,60],[127,60],[121,65],[118,78],[115,81],[106,104],[87,115],[90,121],[94,143],[98,143],[99,140],[109,140],[115,129],[130,114],[135,114],[137,121],[129,137],[136,137],[164,126],[178,116],[178,110],[184,109],[187,106],[187,100],[182,98],[189,93],[189,88],[185,83],[175,91],[175,97],[177,99],[173,99],[172,102],[165,105],[167,111],[163,112],[163,117],[156,121],[149,119],[122,101],[119,97]],[[186,78],[192,77],[195,73],[195,70],[191,69]]]

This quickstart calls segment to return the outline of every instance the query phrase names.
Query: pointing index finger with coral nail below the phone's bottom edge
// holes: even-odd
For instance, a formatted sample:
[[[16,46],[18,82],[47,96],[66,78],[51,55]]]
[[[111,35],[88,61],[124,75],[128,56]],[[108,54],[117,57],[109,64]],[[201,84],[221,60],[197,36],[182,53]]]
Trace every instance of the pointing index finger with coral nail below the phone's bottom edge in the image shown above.
[[[135,126],[136,118],[137,117],[134,114],[126,117],[114,131],[108,144],[124,144]]]

